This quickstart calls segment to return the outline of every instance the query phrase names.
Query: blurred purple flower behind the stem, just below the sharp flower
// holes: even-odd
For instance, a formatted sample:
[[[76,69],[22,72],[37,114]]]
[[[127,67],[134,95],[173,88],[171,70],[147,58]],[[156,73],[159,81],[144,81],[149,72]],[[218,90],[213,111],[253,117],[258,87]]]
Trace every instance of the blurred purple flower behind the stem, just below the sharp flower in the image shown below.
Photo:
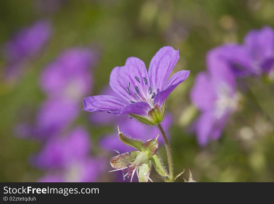
[[[119,117],[119,120],[116,120],[115,124],[115,132],[109,135],[106,135],[100,142],[100,146],[103,149],[113,151],[114,149],[119,150],[120,152],[127,152],[131,151],[134,148],[129,147],[123,143],[120,142],[118,138],[118,134],[116,132],[117,124],[119,125],[119,128],[122,132],[130,135],[133,138],[138,138],[142,141],[147,141],[151,138],[156,138],[158,134],[160,134],[159,130],[155,126],[147,126],[144,124],[141,124],[137,120],[131,120],[127,116],[121,116]],[[168,129],[170,128],[172,124],[172,116],[169,114],[166,114],[162,125],[163,129],[166,133],[168,133]],[[167,134],[169,137],[169,134]],[[163,138],[158,138],[159,144],[163,144]]]

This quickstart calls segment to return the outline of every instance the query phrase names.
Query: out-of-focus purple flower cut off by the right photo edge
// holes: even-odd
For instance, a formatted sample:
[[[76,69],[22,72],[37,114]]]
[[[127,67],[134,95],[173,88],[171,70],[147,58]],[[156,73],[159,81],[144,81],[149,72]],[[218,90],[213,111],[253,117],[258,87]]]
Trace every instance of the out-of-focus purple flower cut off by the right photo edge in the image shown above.
[[[250,31],[243,45],[214,48],[216,60],[223,60],[237,77],[269,73],[274,67],[274,31],[270,27]]]

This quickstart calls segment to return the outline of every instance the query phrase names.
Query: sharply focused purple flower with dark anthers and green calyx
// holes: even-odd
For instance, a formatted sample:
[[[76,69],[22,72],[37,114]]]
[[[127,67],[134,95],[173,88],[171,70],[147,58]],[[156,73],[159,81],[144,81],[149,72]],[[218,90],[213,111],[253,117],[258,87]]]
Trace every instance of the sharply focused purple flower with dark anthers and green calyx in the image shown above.
[[[182,70],[168,80],[178,59],[178,50],[163,47],[152,58],[147,71],[143,61],[129,57],[125,66],[115,67],[110,75],[110,86],[119,97],[86,97],[83,110],[131,114],[143,123],[156,125],[163,120],[166,98],[189,75],[189,71]]]

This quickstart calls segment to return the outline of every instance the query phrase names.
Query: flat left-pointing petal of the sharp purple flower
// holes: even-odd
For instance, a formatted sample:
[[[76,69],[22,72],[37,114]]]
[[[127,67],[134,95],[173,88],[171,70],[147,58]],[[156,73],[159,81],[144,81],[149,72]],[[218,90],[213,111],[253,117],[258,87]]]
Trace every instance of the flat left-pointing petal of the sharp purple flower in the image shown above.
[[[120,115],[125,107],[125,102],[119,98],[106,95],[90,96],[83,99],[83,111],[101,112],[108,111],[115,115]]]

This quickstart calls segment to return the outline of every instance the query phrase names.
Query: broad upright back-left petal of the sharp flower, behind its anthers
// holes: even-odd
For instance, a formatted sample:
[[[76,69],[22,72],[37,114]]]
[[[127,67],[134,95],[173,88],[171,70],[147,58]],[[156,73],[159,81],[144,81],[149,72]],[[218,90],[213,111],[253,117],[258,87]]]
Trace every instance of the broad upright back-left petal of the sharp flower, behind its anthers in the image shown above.
[[[147,84],[143,77],[146,79]],[[111,71],[109,84],[113,91],[120,97],[123,97],[128,103],[130,103],[130,100],[139,101],[139,98],[134,94],[136,92],[135,86],[137,86],[140,93],[144,93],[143,95],[145,96],[149,93],[150,86],[148,72],[144,62],[137,57],[127,58],[125,66],[117,66]],[[128,88],[128,92],[126,88]]]

